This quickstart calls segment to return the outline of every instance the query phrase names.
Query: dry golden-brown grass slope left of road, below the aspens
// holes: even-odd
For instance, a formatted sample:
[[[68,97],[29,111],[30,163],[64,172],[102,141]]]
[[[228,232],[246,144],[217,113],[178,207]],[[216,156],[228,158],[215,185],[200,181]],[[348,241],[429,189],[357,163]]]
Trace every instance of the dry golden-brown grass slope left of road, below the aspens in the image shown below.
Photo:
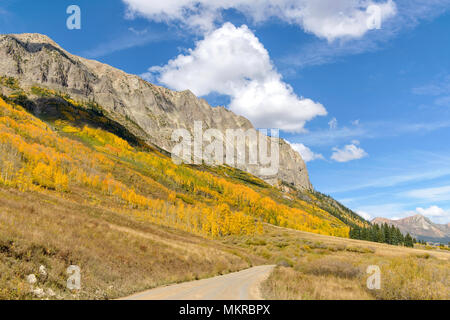
[[[0,188],[0,299],[33,299],[26,281],[53,298],[111,299],[138,291],[241,270],[262,259],[181,231],[143,224],[83,204],[75,194],[20,193]],[[69,265],[82,288],[66,288]]]

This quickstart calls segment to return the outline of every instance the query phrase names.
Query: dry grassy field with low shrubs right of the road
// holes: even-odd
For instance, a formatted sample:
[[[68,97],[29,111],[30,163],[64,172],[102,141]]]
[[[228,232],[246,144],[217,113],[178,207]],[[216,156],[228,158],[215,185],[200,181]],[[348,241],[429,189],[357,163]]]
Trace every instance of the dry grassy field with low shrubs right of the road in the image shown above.
[[[281,233],[281,236],[280,236]],[[267,299],[450,299],[448,251],[406,248],[272,228],[266,248],[277,269],[263,284]],[[278,249],[277,249],[278,248]],[[272,257],[273,259],[273,257]],[[369,290],[367,267],[379,266],[381,288]]]

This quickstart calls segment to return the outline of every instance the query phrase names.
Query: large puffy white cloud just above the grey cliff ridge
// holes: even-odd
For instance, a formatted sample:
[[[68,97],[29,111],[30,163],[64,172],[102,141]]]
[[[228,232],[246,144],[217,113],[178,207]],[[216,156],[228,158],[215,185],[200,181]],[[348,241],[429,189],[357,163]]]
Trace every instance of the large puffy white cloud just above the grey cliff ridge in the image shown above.
[[[327,114],[323,105],[297,96],[282,80],[268,51],[245,25],[237,28],[225,23],[187,54],[150,68],[149,75],[172,89],[189,89],[198,96],[227,95],[229,108],[259,128],[301,132],[307,121]]]

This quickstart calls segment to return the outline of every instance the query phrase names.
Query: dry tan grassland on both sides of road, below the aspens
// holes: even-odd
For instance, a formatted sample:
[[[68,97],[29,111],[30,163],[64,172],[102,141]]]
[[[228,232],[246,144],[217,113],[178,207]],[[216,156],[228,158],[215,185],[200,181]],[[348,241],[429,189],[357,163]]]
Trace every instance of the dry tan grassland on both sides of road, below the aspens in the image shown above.
[[[268,224],[263,235],[209,240],[81,192],[0,188],[0,299],[115,299],[268,264],[278,266],[262,284],[267,299],[449,299],[449,258]],[[81,290],[66,287],[70,265],[81,269]],[[366,287],[369,265],[381,269],[381,290]]]

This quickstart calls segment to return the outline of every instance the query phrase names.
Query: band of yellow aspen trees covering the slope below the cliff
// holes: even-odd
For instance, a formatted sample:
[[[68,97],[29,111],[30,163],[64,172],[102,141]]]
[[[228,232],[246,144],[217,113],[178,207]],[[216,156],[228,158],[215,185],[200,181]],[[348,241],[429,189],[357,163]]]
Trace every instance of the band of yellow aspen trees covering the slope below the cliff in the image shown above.
[[[279,201],[275,188],[229,177],[236,170],[176,165],[103,129],[66,120],[46,124],[0,98],[4,186],[65,193],[81,188],[99,204],[108,199],[138,219],[205,237],[261,234],[263,222],[348,237],[349,228],[328,212],[297,198]]]

